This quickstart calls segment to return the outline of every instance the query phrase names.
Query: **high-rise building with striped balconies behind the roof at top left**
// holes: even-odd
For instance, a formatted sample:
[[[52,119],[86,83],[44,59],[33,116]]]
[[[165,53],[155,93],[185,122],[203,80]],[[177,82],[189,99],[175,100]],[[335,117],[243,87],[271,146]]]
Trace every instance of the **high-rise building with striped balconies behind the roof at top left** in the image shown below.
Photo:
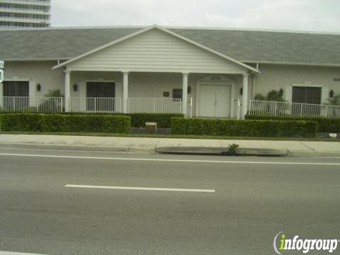
[[[0,28],[50,27],[51,0],[0,0]]]

